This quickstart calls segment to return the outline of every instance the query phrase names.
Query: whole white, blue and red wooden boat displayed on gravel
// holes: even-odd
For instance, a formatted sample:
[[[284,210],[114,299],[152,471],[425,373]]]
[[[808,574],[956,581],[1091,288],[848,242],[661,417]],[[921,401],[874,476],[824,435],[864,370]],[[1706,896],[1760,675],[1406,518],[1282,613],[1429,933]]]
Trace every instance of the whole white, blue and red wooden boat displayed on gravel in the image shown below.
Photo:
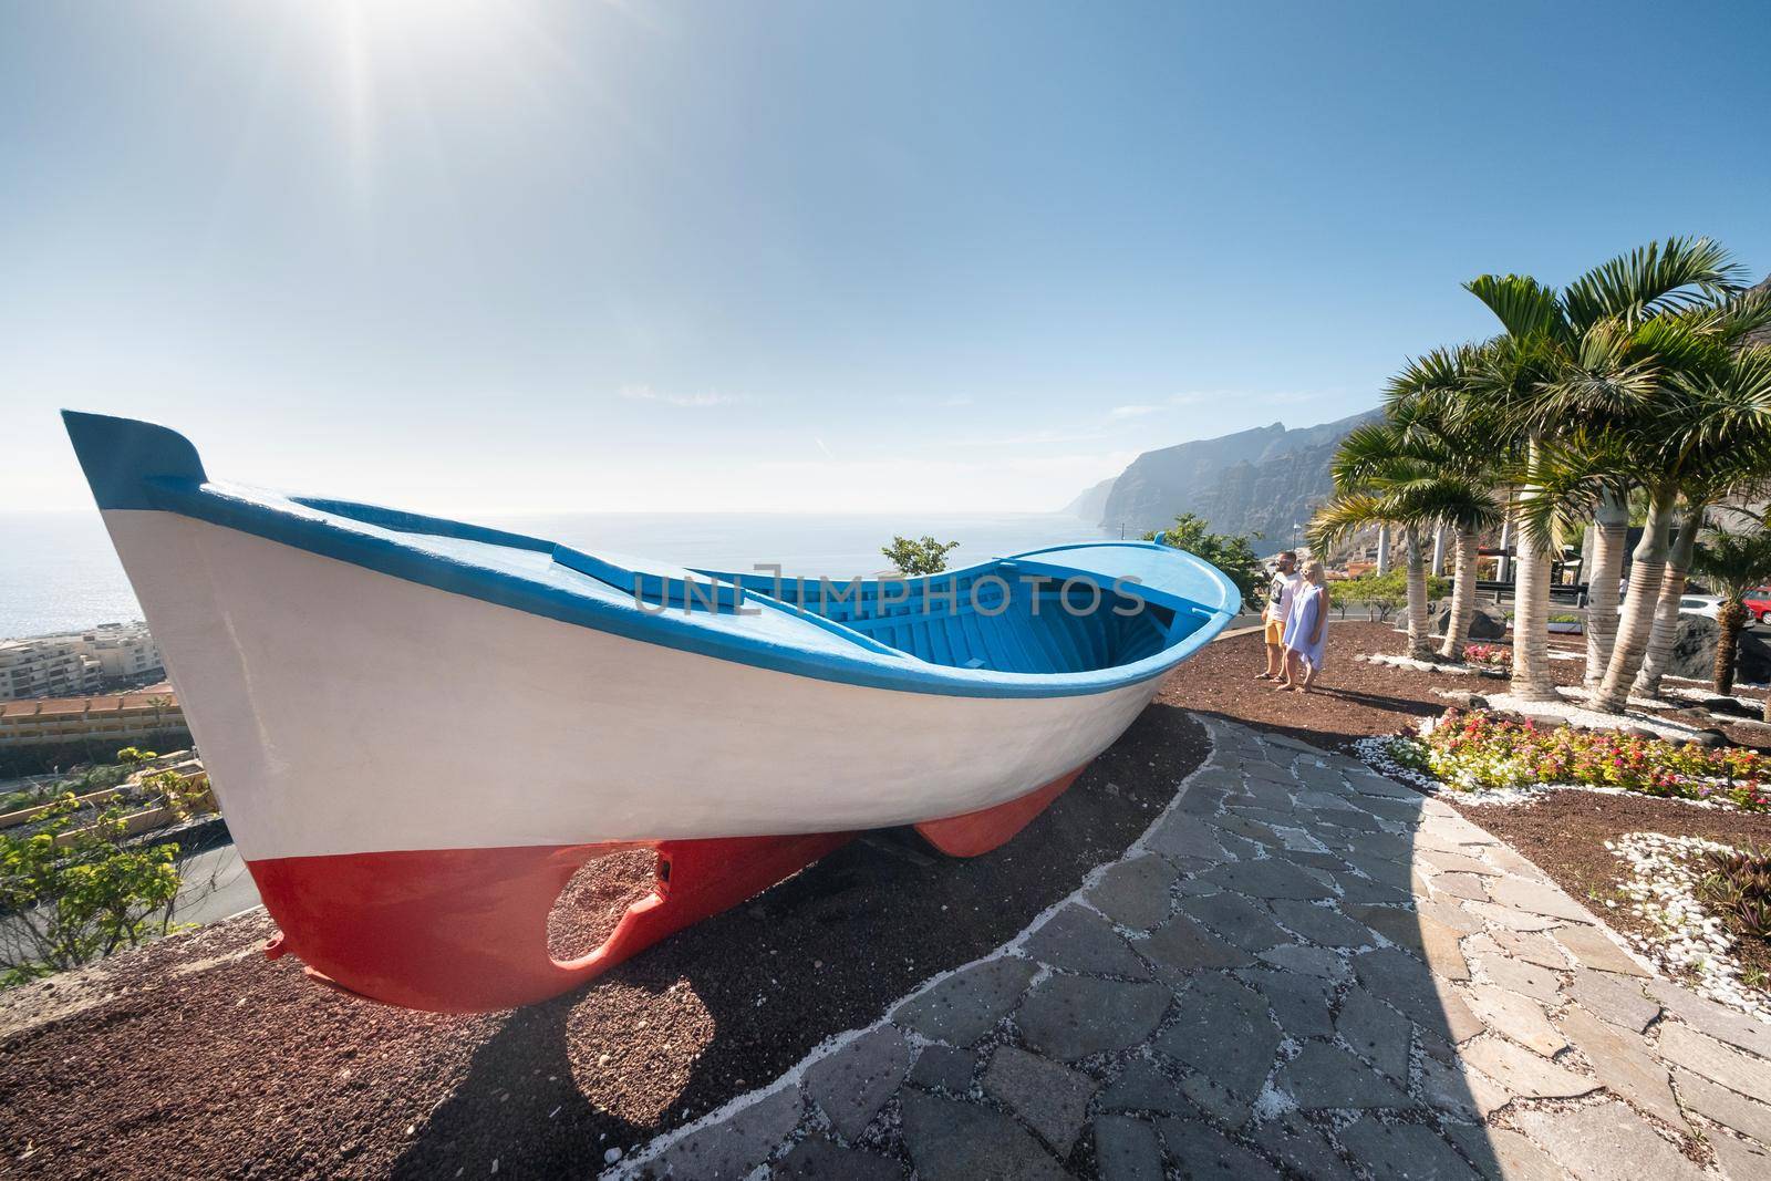
[[[985,853],[1236,613],[1144,542],[919,579],[715,574],[214,482],[66,414],[282,951],[421,1009],[526,1004],[864,829]],[[547,915],[657,852],[590,956]]]

